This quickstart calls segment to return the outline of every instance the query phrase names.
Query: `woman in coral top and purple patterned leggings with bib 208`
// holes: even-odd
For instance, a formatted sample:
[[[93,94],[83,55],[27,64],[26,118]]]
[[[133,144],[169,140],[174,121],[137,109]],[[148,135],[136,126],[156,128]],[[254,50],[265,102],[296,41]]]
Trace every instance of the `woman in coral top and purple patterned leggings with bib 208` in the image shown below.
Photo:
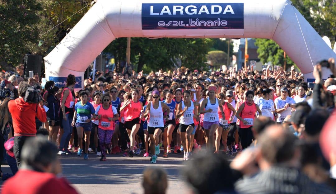
[[[106,148],[109,148],[111,145],[111,140],[115,129],[115,121],[119,119],[117,109],[111,105],[111,96],[109,94],[104,94],[102,101],[102,105],[99,105],[96,108],[94,116],[95,118],[99,119],[98,136],[99,147],[102,153],[100,161],[106,160]]]

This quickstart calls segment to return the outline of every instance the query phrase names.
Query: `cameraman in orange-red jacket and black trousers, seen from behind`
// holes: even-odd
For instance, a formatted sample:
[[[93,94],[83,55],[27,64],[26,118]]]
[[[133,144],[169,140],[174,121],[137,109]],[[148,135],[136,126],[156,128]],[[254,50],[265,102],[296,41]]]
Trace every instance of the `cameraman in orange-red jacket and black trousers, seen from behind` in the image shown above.
[[[45,122],[47,115],[43,108],[43,101],[39,104],[27,103],[24,98],[27,88],[30,85],[27,82],[20,82],[17,93],[19,98],[8,102],[8,109],[13,119],[14,128],[14,155],[17,167],[21,164],[21,150],[25,141],[29,137],[36,136],[35,117],[41,122]]]

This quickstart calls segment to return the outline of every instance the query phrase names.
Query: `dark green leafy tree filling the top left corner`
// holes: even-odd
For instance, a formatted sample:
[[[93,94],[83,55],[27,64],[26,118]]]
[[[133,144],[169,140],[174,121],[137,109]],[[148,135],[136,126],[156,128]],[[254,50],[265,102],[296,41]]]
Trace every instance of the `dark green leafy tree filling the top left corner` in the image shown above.
[[[17,65],[29,51],[27,45],[38,43],[41,10],[36,0],[0,1],[0,61]]]

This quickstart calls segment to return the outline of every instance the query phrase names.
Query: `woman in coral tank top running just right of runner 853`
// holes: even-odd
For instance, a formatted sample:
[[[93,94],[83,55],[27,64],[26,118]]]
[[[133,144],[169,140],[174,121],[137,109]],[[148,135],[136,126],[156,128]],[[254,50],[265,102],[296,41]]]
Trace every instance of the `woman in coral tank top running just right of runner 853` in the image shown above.
[[[233,121],[232,114],[236,114],[235,108],[230,103],[225,102],[225,95],[223,93],[218,94],[218,99],[221,100],[223,112],[225,117],[222,116],[220,109],[218,108],[218,116],[219,116],[219,126],[216,129],[216,142],[215,142],[215,153],[219,153],[219,145],[220,139],[222,138],[222,143],[224,145],[224,150],[226,151],[226,143],[227,143],[227,134],[230,129],[230,122]]]

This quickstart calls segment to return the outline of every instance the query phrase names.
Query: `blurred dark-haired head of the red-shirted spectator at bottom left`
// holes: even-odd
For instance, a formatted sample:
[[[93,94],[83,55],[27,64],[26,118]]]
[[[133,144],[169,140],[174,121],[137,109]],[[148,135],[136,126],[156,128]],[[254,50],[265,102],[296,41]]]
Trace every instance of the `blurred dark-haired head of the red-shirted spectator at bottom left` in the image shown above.
[[[60,162],[57,159],[57,147],[40,135],[26,141],[21,159],[24,169],[54,174],[61,172]]]

